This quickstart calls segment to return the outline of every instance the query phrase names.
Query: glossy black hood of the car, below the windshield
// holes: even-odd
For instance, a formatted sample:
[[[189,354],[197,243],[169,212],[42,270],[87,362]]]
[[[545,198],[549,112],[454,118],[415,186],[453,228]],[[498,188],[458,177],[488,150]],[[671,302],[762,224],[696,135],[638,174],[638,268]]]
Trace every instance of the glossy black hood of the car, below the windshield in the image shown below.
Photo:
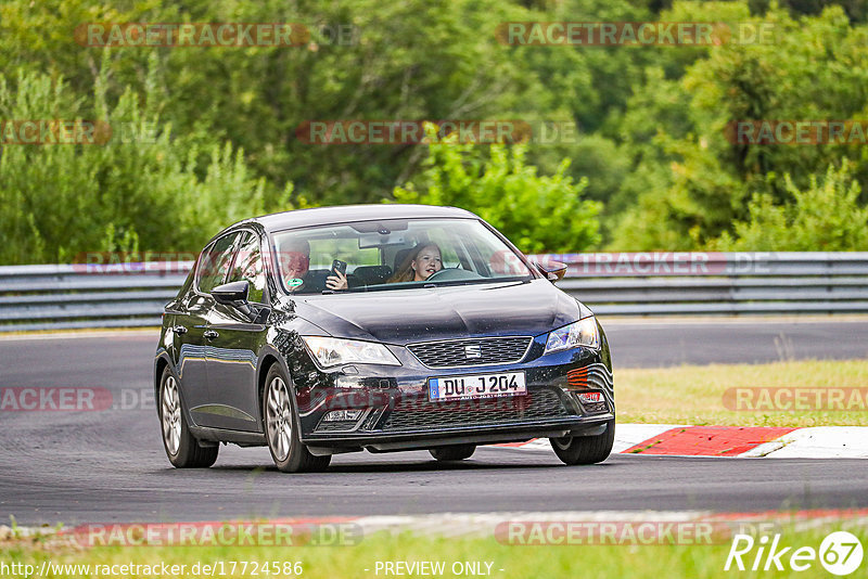
[[[590,314],[546,280],[295,298],[296,313],[333,336],[410,344],[539,335]]]

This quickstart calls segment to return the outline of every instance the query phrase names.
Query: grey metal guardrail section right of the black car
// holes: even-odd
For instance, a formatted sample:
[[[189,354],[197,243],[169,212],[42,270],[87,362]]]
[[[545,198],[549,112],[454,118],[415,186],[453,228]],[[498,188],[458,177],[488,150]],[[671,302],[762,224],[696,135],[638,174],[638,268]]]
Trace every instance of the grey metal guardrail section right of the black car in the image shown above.
[[[536,256],[559,287],[608,316],[868,313],[868,252]]]

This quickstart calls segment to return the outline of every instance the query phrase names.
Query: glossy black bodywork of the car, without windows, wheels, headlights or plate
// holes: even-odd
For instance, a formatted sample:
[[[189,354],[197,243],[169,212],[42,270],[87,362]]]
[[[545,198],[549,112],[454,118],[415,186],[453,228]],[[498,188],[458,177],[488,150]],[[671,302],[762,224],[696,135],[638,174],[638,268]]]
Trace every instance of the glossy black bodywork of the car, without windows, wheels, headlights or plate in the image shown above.
[[[289,295],[278,281],[276,258],[269,255],[275,232],[418,218],[481,221],[469,211],[445,207],[335,207],[248,219],[216,235],[215,240],[243,231],[258,236],[265,263],[261,301],[252,304],[250,311],[218,304],[199,291],[191,272],[166,306],[155,357],[155,388],[168,368],[180,383],[181,408],[190,429],[202,443],[266,443],[263,388],[273,363],[292,383],[301,439],[315,454],[599,434],[615,411],[605,334],[597,322],[599,347],[544,355],[549,332],[591,312],[547,281],[499,234],[528,267],[526,279],[297,296]],[[349,363],[323,369],[306,347],[305,336],[383,344],[400,365]],[[452,348],[458,340],[485,339],[490,340],[492,351],[509,344],[518,358],[436,368],[411,351],[429,343],[448,343],[443,347]],[[429,399],[430,378],[505,372],[524,373],[526,396]],[[604,402],[583,404],[577,393],[585,390],[602,393]],[[361,412],[354,420],[327,423],[326,414],[335,410]]]

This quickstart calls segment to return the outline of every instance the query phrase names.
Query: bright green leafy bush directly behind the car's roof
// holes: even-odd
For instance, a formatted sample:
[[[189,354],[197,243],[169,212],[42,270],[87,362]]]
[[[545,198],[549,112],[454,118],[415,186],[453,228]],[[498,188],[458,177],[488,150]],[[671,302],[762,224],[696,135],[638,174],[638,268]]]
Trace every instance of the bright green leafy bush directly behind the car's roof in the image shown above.
[[[429,132],[433,139],[433,133]],[[526,147],[429,144],[414,182],[395,188],[395,201],[473,208],[525,253],[582,252],[600,241],[600,203],[582,198],[587,181],[566,175],[563,159],[552,176],[527,165]]]

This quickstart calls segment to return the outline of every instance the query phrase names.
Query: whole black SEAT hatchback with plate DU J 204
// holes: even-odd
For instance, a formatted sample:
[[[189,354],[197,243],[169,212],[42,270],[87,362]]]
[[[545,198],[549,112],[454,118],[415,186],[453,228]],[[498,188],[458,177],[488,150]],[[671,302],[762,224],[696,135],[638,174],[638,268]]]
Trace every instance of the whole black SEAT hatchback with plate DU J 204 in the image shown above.
[[[597,319],[477,216],[361,205],[248,219],[203,249],[165,308],[154,372],[171,464],[220,442],[284,472],[331,455],[547,437],[603,461],[615,404]]]

